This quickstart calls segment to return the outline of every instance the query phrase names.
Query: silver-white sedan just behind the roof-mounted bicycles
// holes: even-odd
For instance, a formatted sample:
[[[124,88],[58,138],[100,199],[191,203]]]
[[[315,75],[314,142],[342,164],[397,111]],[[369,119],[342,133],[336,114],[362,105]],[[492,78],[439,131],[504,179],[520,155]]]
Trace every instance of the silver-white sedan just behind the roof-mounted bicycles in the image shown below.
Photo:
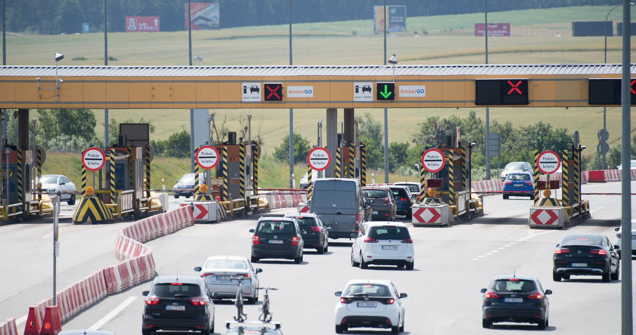
[[[258,301],[258,273],[247,257],[212,256],[205,260],[203,267],[197,266],[200,277],[204,278],[210,294],[218,294],[219,299],[235,299],[239,289],[239,279],[243,278],[241,292],[248,304]],[[215,299],[217,299],[215,297]]]

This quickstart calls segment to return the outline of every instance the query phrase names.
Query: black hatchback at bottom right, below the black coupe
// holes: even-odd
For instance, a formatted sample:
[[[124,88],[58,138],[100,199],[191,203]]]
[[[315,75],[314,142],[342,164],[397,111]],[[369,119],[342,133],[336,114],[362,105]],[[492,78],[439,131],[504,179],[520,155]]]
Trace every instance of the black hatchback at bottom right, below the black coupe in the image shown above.
[[[494,322],[527,322],[538,329],[548,327],[548,294],[535,277],[499,276],[488,289],[481,289],[481,325],[490,328]]]

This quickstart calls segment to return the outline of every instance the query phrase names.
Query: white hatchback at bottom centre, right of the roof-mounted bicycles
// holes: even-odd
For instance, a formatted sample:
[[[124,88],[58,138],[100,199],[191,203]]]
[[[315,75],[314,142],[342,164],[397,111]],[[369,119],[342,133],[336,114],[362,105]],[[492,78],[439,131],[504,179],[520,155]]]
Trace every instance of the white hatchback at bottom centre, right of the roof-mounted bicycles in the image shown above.
[[[404,331],[404,304],[400,300],[406,293],[397,293],[389,280],[349,280],[343,291],[335,293],[336,333],[349,328],[371,327],[391,329],[391,334]]]

